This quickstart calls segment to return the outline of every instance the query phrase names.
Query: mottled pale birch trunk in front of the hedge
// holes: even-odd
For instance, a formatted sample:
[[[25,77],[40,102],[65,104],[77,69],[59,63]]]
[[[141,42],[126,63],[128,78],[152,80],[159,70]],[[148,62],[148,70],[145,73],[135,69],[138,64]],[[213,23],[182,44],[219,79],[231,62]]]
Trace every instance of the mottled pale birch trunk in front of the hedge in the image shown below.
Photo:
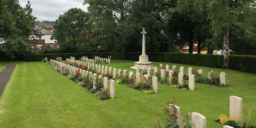
[[[225,33],[224,39],[223,39],[223,69],[229,68],[229,48],[228,48],[228,32]]]

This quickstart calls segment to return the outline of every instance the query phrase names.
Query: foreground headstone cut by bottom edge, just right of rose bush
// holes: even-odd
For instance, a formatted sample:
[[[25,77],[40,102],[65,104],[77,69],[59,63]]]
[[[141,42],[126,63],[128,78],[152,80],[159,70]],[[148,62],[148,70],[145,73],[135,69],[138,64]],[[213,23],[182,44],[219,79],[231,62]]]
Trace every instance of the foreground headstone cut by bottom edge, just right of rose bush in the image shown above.
[[[206,117],[199,113],[192,112],[191,122],[195,128],[206,128]]]

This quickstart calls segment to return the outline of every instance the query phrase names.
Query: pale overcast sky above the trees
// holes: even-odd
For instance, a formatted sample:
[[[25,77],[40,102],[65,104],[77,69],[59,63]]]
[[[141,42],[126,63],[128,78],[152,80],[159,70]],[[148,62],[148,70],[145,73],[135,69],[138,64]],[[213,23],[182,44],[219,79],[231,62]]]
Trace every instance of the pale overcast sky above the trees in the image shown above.
[[[29,0],[33,9],[32,15],[38,21],[55,21],[60,14],[70,8],[81,8],[87,12],[87,7],[83,6],[84,0]],[[20,6],[26,7],[28,0],[19,0]]]

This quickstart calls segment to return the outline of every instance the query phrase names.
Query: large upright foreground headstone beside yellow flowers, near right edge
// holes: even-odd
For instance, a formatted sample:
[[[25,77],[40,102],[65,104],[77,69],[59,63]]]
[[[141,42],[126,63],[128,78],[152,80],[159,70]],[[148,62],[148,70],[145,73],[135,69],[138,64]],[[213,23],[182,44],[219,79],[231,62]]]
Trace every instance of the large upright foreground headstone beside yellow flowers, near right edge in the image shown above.
[[[238,120],[240,111],[243,113],[243,99],[237,96],[229,96],[229,116]]]

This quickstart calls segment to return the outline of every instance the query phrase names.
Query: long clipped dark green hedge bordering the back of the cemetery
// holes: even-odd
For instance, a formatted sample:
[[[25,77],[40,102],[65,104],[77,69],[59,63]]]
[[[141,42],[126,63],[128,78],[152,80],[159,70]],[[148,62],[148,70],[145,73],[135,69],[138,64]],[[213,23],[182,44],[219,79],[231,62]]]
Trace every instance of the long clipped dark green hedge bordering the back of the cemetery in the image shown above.
[[[139,52],[127,52],[126,60],[139,60]],[[150,61],[154,62],[171,62],[182,63],[187,65],[207,66],[214,68],[223,68],[223,55],[213,54],[184,54],[184,53],[147,53]],[[94,58],[94,56],[100,56],[107,58],[111,56],[111,59],[122,59],[121,52],[102,52],[102,53],[60,53],[60,54],[27,54],[27,61],[41,61],[44,57],[48,60],[56,59],[56,57],[62,57],[63,60],[70,56],[76,59],[82,56],[88,58]],[[230,55],[229,58],[230,69],[249,72],[256,74],[256,57],[245,55]]]

